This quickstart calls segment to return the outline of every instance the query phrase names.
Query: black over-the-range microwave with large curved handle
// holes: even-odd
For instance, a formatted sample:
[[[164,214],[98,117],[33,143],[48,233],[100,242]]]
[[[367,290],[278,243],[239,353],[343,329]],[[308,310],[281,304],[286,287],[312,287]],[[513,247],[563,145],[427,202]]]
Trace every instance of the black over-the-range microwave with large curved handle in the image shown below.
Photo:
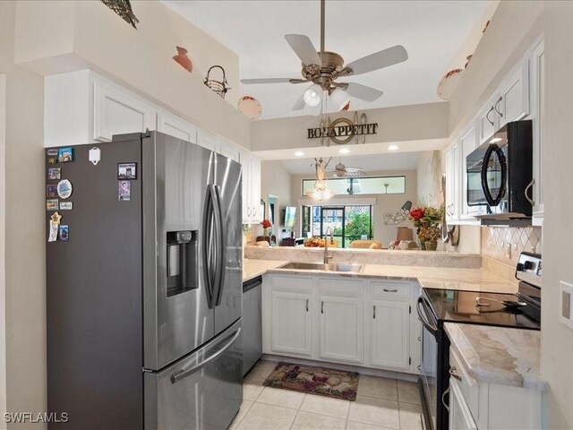
[[[504,125],[466,157],[468,213],[479,219],[531,218],[531,121]]]

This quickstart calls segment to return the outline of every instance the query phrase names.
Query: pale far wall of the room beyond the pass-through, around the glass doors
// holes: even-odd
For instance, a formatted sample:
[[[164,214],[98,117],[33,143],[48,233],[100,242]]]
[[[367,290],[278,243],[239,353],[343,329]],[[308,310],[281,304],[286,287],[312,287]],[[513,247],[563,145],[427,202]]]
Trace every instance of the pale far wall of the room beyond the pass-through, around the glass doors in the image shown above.
[[[382,215],[384,213],[396,213],[400,210],[402,205],[409,200],[410,202],[417,202],[417,180],[415,170],[403,171],[384,171],[384,172],[368,172],[366,176],[406,176],[406,193],[404,194],[359,194],[359,195],[340,195],[337,197],[344,197],[346,200],[353,199],[368,199],[375,198],[376,204],[372,208],[373,224],[374,224],[374,240],[378,240],[384,247],[388,247],[392,240],[396,240],[398,227],[412,227],[412,223],[408,220],[393,226],[384,226],[382,224]],[[292,176],[292,198],[291,201],[297,207],[296,211],[300,212],[298,201],[304,199],[302,195],[302,181],[303,179],[314,179],[312,175],[293,175]],[[327,206],[325,204],[325,206]],[[296,217],[295,232],[298,235],[301,229],[301,214],[298,213]]]

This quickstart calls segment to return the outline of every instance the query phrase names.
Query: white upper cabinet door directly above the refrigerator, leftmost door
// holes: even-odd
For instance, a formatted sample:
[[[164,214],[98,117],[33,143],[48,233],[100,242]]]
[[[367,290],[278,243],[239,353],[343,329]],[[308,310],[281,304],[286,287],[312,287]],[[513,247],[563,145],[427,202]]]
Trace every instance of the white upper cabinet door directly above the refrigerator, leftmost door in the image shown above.
[[[156,112],[145,100],[106,82],[94,81],[93,90],[94,141],[108,142],[114,134],[157,128]]]

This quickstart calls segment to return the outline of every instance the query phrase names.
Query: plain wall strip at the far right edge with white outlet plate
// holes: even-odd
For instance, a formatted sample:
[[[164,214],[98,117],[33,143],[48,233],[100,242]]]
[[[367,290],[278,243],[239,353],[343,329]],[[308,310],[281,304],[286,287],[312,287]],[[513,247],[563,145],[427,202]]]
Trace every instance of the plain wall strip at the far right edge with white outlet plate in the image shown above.
[[[573,428],[573,331],[559,322],[560,281],[573,284],[573,3],[549,2],[545,9],[542,372],[550,387],[549,427]]]

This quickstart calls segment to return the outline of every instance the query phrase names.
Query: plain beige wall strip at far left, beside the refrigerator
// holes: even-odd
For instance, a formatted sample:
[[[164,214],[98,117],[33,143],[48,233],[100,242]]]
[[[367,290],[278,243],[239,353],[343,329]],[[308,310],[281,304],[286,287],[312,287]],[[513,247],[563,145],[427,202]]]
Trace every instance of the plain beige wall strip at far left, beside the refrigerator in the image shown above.
[[[5,169],[0,174],[7,203],[0,209],[6,337],[6,378],[0,383],[5,384],[7,410],[38,413],[47,408],[44,78],[13,63],[15,9],[14,2],[0,2],[0,73],[6,87]]]

